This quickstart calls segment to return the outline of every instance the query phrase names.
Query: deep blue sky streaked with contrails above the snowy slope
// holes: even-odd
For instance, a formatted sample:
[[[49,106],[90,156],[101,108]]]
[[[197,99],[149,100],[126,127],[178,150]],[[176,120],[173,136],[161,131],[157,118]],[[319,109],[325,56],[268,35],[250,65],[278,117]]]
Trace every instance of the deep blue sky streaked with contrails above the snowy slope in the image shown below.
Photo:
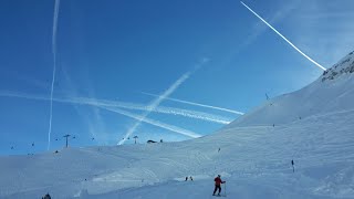
[[[352,0],[244,3],[325,67],[353,51]],[[54,0],[0,2],[2,155],[46,150],[53,12]],[[194,71],[196,65],[200,67]],[[101,100],[128,105],[121,111],[145,115],[155,124],[199,135],[225,125],[212,119],[239,117],[168,100],[162,100],[156,108],[163,106],[160,112],[179,112],[184,116],[147,114],[146,106],[156,96],[143,92],[162,95],[186,73],[188,78],[169,97],[247,113],[266,101],[266,93],[273,97],[299,90],[321,75],[322,70],[239,1],[61,0],[50,149],[61,148],[65,134],[76,136],[70,142],[72,146],[116,145],[122,140],[137,121],[114,112],[117,107],[93,105]],[[204,119],[186,116],[187,111]],[[139,124],[134,135],[139,143],[190,138],[146,123]]]

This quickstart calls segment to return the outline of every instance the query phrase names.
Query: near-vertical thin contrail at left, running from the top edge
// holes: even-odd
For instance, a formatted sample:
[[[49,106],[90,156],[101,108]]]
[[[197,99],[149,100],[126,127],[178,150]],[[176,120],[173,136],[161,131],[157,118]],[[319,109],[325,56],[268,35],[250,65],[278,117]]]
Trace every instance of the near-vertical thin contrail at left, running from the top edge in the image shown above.
[[[55,71],[56,71],[56,30],[58,30],[59,4],[60,4],[60,0],[55,0],[54,17],[53,17],[53,35],[52,35],[53,77],[52,77],[52,86],[51,86],[51,105],[50,105],[50,114],[49,114],[48,147],[46,147],[48,150],[51,147],[51,134],[52,134],[53,93],[54,93],[54,82],[55,82]]]

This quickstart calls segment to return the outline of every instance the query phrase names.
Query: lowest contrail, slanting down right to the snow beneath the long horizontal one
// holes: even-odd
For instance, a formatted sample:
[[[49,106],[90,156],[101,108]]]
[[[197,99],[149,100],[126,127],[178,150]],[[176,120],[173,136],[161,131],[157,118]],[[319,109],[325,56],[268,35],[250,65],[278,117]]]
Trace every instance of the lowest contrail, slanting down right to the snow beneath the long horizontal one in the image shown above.
[[[154,125],[154,126],[158,126],[160,128],[165,128],[165,129],[168,129],[168,130],[171,130],[171,132],[175,132],[175,133],[188,136],[188,137],[192,137],[192,138],[201,137],[200,134],[197,134],[197,133],[194,133],[194,132],[190,132],[190,130],[177,127],[177,126],[168,125],[168,124],[165,124],[165,123],[162,123],[162,122],[158,122],[158,121],[146,118],[145,115],[136,115],[136,114],[133,114],[133,113],[129,113],[129,112],[125,112],[123,109],[108,108],[108,107],[104,107],[104,106],[101,106],[101,108],[107,109],[110,112],[118,113],[118,114],[125,115],[127,117],[132,117],[134,119],[137,119],[139,122],[144,122],[144,123],[147,123],[147,124],[150,124],[150,125]]]

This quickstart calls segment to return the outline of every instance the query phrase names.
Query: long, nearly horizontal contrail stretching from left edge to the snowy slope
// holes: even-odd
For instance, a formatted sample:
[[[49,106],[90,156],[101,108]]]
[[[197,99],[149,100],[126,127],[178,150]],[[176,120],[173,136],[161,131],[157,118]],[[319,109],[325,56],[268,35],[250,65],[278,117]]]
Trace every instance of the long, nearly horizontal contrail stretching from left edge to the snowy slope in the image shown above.
[[[28,100],[38,100],[38,101],[50,101],[51,98],[40,95],[30,95],[30,94],[22,94],[22,93],[14,93],[14,92],[1,92],[0,96],[6,97],[20,97],[20,98],[28,98]],[[136,109],[136,111],[150,111],[150,108],[143,104],[134,104],[134,103],[124,103],[124,102],[115,102],[115,101],[104,101],[104,100],[96,100],[96,98],[85,98],[85,97],[67,97],[67,98],[52,98],[53,102],[59,103],[69,103],[69,104],[82,104],[82,105],[91,105],[91,106],[104,106],[104,107],[118,107],[125,109]],[[166,107],[166,106],[158,106],[152,112],[162,113],[162,114],[169,114],[169,115],[179,115],[189,118],[196,118],[218,124],[230,124],[235,118],[228,118],[220,115],[208,114],[205,112],[197,112],[197,111],[189,111],[183,108],[174,108],[174,107]]]

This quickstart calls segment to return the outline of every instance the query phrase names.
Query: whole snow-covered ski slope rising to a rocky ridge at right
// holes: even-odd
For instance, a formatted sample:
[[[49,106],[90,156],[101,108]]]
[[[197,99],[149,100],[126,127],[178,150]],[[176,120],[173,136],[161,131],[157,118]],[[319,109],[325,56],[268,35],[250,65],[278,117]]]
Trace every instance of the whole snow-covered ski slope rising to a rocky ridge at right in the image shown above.
[[[218,174],[229,198],[353,198],[353,65],[201,138],[0,157],[0,198],[212,198]]]

